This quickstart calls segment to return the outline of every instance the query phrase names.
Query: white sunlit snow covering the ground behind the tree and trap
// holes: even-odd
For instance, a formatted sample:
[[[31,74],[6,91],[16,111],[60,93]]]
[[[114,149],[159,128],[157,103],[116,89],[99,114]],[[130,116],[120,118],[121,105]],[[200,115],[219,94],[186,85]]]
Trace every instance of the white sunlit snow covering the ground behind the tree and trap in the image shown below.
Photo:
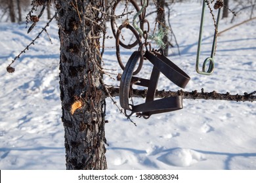
[[[177,48],[172,48],[169,59],[190,76],[185,90],[204,88],[206,92],[232,94],[255,91],[255,20],[218,37],[215,71],[203,76],[195,71],[201,4],[176,3],[174,8],[171,24],[181,56]],[[221,20],[219,30],[246,18],[246,14],[238,14],[233,24],[230,19]],[[154,27],[153,19],[150,22]],[[0,169],[66,169],[56,22],[48,31],[53,44],[43,33],[14,63],[15,73],[6,72],[7,65],[44,24],[39,22],[28,35],[24,24],[0,23]],[[205,20],[204,29],[200,61],[210,56],[211,17]],[[114,40],[107,39],[106,46],[114,46]],[[121,50],[122,59],[127,60],[132,52]],[[121,73],[114,48],[106,48],[103,59],[105,69],[116,68],[111,72]],[[144,63],[141,75],[150,75],[150,68],[150,63]],[[104,80],[119,85],[109,76]],[[158,89],[181,88],[161,75]],[[114,100],[118,102],[119,98]],[[183,105],[182,110],[153,115],[148,120],[132,117],[136,127],[108,98],[108,169],[256,169],[255,103],[184,99]]]

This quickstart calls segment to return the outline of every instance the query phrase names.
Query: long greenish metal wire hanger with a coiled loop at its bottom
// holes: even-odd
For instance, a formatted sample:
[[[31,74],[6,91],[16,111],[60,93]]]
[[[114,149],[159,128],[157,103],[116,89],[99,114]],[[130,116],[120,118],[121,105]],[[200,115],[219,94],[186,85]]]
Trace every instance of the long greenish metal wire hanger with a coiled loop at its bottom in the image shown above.
[[[198,39],[198,52],[196,54],[196,72],[200,75],[211,75],[214,70],[214,55],[216,50],[216,41],[217,41],[217,35],[218,35],[218,25],[219,25],[219,17],[221,14],[221,8],[218,10],[217,14],[217,20],[215,25],[215,33],[213,37],[213,45],[211,47],[211,56],[209,58],[206,58],[203,61],[203,67],[202,71],[199,69],[199,58],[200,58],[200,51],[201,51],[201,45],[202,45],[202,34],[203,34],[203,22],[204,22],[204,16],[205,16],[205,6],[207,5],[207,1],[203,0],[203,7],[202,7],[202,16],[201,16],[201,23],[200,23],[200,33],[199,33],[199,39]],[[209,65],[207,69],[207,65]],[[206,71],[207,69],[207,71]]]

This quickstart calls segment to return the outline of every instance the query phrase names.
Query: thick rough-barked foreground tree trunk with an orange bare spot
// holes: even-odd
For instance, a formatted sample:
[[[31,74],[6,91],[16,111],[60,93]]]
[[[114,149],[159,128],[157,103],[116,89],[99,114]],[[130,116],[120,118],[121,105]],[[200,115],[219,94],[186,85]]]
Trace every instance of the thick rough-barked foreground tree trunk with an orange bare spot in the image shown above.
[[[102,73],[98,12],[100,1],[58,1],[60,99],[66,169],[107,169],[104,133],[106,95]]]

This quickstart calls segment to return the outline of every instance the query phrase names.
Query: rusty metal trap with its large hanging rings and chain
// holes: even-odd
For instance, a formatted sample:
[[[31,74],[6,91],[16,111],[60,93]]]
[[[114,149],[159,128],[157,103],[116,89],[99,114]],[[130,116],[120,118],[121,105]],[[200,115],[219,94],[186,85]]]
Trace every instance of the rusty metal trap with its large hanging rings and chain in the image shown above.
[[[121,15],[116,14],[116,9],[120,5],[119,3],[125,3],[123,6],[123,14]],[[175,65],[175,63],[165,57],[162,49],[154,50],[151,48],[151,44],[148,42],[148,40],[158,41],[157,39],[161,39],[161,37],[158,37],[158,34],[149,35],[150,25],[145,19],[148,1],[142,0],[140,1],[140,5],[142,8],[139,8],[139,5],[137,5],[135,0],[125,2],[121,0],[116,1],[112,10],[111,25],[112,32],[116,38],[117,61],[121,69],[123,69],[119,86],[120,105],[125,110],[125,115],[127,117],[137,114],[138,117],[142,116],[143,118],[148,119],[152,114],[171,112],[182,108],[182,96],[167,97],[155,100],[155,93],[158,80],[160,78],[160,73],[181,88],[186,87],[190,77],[184,73],[182,69]],[[133,25],[131,25],[131,22],[129,22],[128,15],[131,14],[131,12],[127,10],[127,7],[132,7],[133,10],[137,11],[137,13],[133,16]],[[125,16],[127,18],[121,23],[121,25],[118,26],[116,19],[118,17]],[[139,25],[137,25],[137,22],[139,22]],[[144,30],[145,24],[147,27],[146,30]],[[126,44],[125,42],[121,41],[120,35],[123,29],[128,29],[131,31],[136,40],[131,44]],[[142,42],[142,39],[144,39],[144,42]],[[124,65],[121,60],[120,46],[126,49],[131,49],[135,46],[138,47],[138,49],[131,54],[126,65]],[[140,73],[144,61],[149,61],[153,65],[152,73],[149,79],[135,76]],[[141,103],[139,105],[129,103],[129,98],[133,96],[132,89],[134,85],[147,88],[145,103]]]

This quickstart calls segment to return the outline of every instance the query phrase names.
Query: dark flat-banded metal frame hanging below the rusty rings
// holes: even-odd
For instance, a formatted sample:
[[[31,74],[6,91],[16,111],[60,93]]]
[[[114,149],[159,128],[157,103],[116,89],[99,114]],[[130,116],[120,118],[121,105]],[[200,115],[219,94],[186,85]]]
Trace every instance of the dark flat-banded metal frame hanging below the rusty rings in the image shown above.
[[[160,73],[165,75],[169,80],[171,80],[171,82],[181,88],[186,87],[190,77],[172,61],[167,59],[163,55],[163,50],[152,52],[146,50],[143,56],[154,66],[150,79],[133,76],[135,66],[139,61],[140,56],[140,51],[133,52],[125,65],[123,75],[121,76],[119,99],[121,107],[125,109],[125,115],[130,117],[136,113],[138,117],[142,116],[143,118],[148,119],[152,114],[171,112],[183,108],[181,95],[154,100],[156,88]],[[129,103],[129,97],[131,97],[133,84],[148,88],[145,103],[141,103],[139,105]],[[127,114],[127,111],[129,111],[129,114]]]

